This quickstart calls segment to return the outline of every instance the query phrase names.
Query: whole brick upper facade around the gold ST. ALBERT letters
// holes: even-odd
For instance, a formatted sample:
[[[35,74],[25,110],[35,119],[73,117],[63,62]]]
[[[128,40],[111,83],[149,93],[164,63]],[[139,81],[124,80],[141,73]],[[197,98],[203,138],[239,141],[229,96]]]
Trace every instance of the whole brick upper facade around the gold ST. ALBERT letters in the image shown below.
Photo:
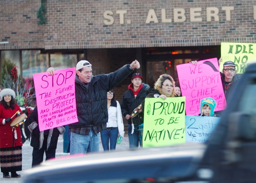
[[[220,45],[220,42],[255,42],[256,20],[252,0],[47,0],[46,24],[37,25],[39,0],[0,1],[0,38],[6,49],[95,49]],[[226,20],[224,6],[234,6]],[[189,8],[201,7],[202,22],[191,22]],[[219,21],[206,21],[206,7],[219,10]],[[173,22],[173,9],[183,8],[186,20]],[[159,23],[145,23],[154,9]],[[161,22],[161,9],[172,23]],[[117,10],[127,10],[120,24]],[[112,11],[112,25],[103,13]],[[254,15],[255,16],[255,15]],[[129,24],[129,21],[131,22]]]

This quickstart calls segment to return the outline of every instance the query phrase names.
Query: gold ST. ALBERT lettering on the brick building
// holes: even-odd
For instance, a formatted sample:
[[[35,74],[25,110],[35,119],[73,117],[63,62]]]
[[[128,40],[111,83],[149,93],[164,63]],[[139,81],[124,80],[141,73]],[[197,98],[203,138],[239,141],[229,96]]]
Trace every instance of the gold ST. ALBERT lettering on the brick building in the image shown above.
[[[156,9],[149,9],[147,17],[145,19],[145,24],[150,23],[177,23],[177,22],[202,22],[203,20],[207,22],[218,22],[220,21],[219,13],[224,11],[225,19],[224,21],[230,21],[232,19],[232,11],[235,10],[234,6],[223,6],[220,9],[217,7],[195,7],[195,8],[173,8],[173,9],[161,9],[161,11]],[[172,13],[171,13],[172,11]],[[189,13],[187,12],[189,11]],[[203,14],[206,17],[202,16]],[[125,19],[125,16],[129,13],[128,10],[116,10],[116,15],[119,15],[119,24],[131,24],[131,19]],[[172,17],[171,17],[172,16]],[[161,17],[161,19],[158,19]],[[103,13],[103,23],[105,25],[112,25],[115,22],[113,11],[104,11]],[[256,5],[253,6],[253,19],[256,20]],[[126,21],[126,22],[125,22]]]

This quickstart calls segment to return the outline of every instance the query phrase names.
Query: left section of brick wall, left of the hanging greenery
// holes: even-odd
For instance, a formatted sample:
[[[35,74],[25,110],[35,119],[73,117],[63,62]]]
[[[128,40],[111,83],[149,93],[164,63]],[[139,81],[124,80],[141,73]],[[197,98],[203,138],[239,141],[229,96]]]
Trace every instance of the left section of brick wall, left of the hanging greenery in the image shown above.
[[[40,1],[0,1],[0,50],[44,48],[44,27],[37,25]]]

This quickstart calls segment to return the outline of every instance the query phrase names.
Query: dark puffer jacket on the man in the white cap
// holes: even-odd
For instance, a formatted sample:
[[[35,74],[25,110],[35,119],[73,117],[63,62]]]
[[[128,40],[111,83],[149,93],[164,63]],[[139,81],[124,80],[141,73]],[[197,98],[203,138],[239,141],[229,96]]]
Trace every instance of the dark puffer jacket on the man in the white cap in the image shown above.
[[[87,86],[76,77],[76,111],[78,122],[69,128],[89,127],[108,122],[107,92],[133,72],[124,65],[115,72],[92,76]],[[88,88],[88,89],[87,89]]]

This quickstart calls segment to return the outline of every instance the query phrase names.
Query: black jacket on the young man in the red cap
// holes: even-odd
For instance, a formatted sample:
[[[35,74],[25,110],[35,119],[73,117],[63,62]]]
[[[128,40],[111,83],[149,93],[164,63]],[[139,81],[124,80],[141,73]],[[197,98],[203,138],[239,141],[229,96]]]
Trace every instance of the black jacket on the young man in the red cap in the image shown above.
[[[120,103],[122,114],[125,117],[127,114],[132,114],[132,111],[138,107],[142,101],[145,100],[146,91],[150,88],[149,85],[142,83],[143,87],[140,89],[139,94],[136,98],[133,95],[131,89],[128,89],[123,96],[122,102]],[[140,125],[143,123],[143,112],[135,116],[134,118],[130,118],[128,124]]]

